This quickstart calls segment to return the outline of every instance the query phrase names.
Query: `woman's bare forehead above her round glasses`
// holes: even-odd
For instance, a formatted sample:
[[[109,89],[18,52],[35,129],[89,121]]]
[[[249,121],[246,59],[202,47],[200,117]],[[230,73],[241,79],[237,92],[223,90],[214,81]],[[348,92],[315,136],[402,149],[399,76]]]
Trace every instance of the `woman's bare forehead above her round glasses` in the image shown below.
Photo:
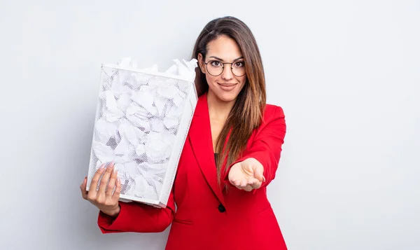
[[[242,57],[242,53],[235,40],[227,36],[219,36],[207,45],[207,57],[212,56],[230,62]]]

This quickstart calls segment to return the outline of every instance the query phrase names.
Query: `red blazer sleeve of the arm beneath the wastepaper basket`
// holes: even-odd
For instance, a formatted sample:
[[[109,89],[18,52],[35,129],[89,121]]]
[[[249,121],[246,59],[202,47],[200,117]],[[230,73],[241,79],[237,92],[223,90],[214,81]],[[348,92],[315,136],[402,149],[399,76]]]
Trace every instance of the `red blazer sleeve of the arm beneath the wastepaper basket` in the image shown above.
[[[173,188],[165,208],[139,202],[119,203],[121,210],[116,218],[99,211],[97,222],[102,233],[162,232],[172,223],[175,214]]]

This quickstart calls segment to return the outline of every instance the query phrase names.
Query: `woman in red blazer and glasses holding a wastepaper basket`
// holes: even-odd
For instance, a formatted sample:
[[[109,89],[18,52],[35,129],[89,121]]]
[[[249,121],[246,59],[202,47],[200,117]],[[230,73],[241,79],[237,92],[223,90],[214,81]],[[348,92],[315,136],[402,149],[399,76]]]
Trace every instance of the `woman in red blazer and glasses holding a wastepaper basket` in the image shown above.
[[[97,186],[104,174],[110,191],[100,185],[86,192],[85,179],[83,197],[99,208],[104,233],[162,232],[172,223],[168,250],[286,249],[266,194],[286,124],[279,106],[265,104],[265,76],[253,34],[237,18],[212,20],[193,57],[200,66],[199,100],[167,207],[118,202],[121,183],[113,163],[102,166],[91,184]]]

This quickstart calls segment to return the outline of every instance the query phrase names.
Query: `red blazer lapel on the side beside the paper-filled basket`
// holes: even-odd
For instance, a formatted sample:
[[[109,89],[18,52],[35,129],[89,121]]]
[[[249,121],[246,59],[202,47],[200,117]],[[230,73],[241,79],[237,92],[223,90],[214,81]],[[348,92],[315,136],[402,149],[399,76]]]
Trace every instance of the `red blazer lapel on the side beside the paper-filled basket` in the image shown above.
[[[218,200],[225,206],[221,186],[218,185],[217,181],[207,94],[199,97],[197,101],[188,138],[204,178],[209,183],[216,197],[218,197]]]

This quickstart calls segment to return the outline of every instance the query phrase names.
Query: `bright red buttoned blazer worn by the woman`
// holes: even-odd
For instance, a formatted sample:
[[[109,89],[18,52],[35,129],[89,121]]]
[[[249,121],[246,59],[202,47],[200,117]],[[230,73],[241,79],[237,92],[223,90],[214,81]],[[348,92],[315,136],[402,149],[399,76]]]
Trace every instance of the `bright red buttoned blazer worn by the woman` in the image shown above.
[[[120,202],[121,211],[115,220],[99,212],[99,228],[103,233],[162,232],[172,223],[167,250],[287,249],[266,193],[267,184],[276,174],[285,134],[283,110],[267,104],[262,125],[237,160],[257,159],[264,166],[266,181],[251,192],[230,184],[229,191],[222,192],[216,179],[207,95],[202,95],[167,207]],[[224,179],[228,183],[227,174]]]

